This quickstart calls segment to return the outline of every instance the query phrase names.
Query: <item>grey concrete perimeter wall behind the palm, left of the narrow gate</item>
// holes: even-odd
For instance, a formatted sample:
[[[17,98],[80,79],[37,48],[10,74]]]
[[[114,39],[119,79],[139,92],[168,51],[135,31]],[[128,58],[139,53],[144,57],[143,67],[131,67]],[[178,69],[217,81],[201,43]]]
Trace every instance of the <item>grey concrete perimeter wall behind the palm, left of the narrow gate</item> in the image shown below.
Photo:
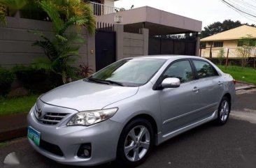
[[[41,47],[31,46],[35,40],[41,40],[29,30],[43,31],[46,36],[52,36],[52,24],[40,20],[28,20],[18,17],[7,17],[8,26],[0,27],[0,66],[13,67],[17,64],[29,65],[37,57],[45,56]],[[95,50],[94,38],[90,37],[86,31],[81,34],[87,39],[87,43],[80,47],[80,56],[76,65],[80,63],[90,63],[92,68],[95,67]],[[89,49],[88,49],[89,48]],[[93,52],[94,53],[94,52]],[[89,56],[89,57],[88,57]]]

